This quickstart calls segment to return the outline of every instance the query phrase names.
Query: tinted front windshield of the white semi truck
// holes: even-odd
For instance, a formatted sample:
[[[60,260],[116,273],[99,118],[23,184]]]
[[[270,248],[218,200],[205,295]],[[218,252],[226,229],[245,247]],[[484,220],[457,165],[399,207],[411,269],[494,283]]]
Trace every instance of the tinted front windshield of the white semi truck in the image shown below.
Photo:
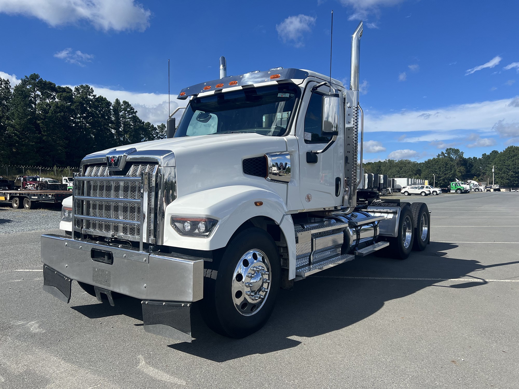
[[[282,136],[300,93],[293,84],[280,84],[195,98],[175,138],[239,132]]]

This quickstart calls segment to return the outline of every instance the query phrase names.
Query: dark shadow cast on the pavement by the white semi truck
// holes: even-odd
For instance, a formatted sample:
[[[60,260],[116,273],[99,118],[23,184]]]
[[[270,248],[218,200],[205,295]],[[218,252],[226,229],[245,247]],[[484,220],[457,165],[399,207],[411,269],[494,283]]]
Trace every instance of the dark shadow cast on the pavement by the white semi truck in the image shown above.
[[[431,242],[424,252],[413,252],[403,261],[375,256],[355,259],[298,281],[291,291],[281,290],[274,313],[265,327],[247,338],[229,339],[216,335],[202,324],[201,318],[194,317],[192,329],[196,339],[192,343],[176,343],[169,347],[214,362],[290,349],[302,343],[291,337],[312,338],[346,328],[377,312],[386,301],[412,295],[441,280],[469,277],[477,281],[477,277],[467,274],[487,267],[519,263],[483,266],[476,260],[445,257],[447,251],[455,247],[458,246]],[[452,282],[456,283],[450,286],[453,288],[486,284],[481,281]]]

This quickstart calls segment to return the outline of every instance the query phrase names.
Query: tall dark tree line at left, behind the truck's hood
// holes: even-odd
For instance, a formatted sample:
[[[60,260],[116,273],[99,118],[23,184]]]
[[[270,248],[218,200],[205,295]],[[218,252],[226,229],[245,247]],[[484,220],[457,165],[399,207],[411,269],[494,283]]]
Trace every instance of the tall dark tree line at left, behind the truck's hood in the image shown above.
[[[89,85],[31,74],[12,88],[0,78],[0,164],[78,166],[91,152],[165,137],[165,124],[144,122],[130,103]]]

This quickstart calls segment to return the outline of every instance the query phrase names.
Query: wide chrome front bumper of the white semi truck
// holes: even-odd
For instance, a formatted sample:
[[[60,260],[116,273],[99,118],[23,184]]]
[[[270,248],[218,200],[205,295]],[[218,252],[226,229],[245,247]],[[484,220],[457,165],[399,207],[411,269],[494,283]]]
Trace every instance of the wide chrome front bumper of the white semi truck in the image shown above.
[[[112,253],[113,263],[92,259]],[[193,302],[203,297],[203,260],[42,235],[42,262],[69,279],[141,300]]]

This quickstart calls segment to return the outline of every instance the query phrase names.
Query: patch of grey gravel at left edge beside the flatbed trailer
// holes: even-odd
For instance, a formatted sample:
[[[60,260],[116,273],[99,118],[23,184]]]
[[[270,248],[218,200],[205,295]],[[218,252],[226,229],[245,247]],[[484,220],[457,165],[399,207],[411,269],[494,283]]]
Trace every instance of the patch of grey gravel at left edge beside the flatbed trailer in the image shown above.
[[[13,210],[0,205],[0,235],[59,228],[61,204],[38,204],[37,209]]]

